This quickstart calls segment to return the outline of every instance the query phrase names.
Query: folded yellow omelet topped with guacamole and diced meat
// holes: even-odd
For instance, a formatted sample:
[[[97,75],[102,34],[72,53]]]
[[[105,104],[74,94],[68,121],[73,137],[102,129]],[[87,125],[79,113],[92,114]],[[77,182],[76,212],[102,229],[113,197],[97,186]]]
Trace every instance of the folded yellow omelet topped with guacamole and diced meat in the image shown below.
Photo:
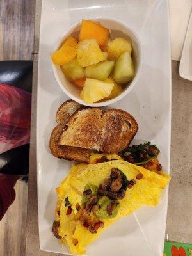
[[[67,244],[71,253],[85,253],[86,247],[117,220],[142,205],[157,205],[169,182],[168,173],[152,172],[123,160],[72,166],[56,188],[54,222],[60,243]]]

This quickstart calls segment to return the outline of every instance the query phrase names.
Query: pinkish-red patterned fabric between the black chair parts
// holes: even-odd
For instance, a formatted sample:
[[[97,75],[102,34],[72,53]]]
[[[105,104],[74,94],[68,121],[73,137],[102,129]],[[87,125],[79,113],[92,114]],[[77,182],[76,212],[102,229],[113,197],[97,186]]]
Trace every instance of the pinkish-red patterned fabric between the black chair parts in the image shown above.
[[[0,154],[29,143],[31,93],[0,83]]]

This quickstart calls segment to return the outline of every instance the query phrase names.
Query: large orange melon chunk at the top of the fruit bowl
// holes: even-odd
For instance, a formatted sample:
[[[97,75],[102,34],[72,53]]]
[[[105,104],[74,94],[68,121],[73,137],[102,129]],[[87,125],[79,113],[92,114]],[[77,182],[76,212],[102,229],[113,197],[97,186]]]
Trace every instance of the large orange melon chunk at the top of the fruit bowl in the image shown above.
[[[100,26],[91,20],[82,20],[79,40],[96,39],[100,47],[108,43],[109,29]]]

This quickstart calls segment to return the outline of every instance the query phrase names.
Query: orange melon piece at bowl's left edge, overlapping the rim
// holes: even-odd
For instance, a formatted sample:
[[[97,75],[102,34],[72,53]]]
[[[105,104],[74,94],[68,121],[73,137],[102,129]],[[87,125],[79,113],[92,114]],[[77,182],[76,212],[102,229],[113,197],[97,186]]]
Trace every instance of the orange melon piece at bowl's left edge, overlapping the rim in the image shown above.
[[[72,36],[68,36],[61,48],[52,52],[51,59],[54,65],[63,65],[73,60],[77,54],[77,40]]]

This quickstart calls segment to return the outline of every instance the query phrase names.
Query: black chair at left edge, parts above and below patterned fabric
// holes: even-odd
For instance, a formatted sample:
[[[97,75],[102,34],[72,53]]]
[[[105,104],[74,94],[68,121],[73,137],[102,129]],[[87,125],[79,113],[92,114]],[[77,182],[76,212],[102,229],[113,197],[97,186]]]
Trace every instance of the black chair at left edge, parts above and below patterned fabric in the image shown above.
[[[0,83],[31,92],[32,74],[33,61],[0,61]],[[28,175],[28,170],[29,144],[0,154],[0,173]]]

